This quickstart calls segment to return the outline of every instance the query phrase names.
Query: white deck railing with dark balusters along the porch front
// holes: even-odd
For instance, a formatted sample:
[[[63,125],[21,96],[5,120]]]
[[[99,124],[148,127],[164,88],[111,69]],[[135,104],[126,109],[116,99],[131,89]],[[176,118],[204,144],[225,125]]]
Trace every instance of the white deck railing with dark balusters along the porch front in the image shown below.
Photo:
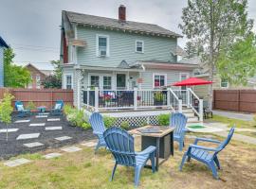
[[[182,99],[171,88],[167,90],[94,90],[82,91],[83,105],[94,112],[107,110],[143,110],[152,108],[182,112]]]

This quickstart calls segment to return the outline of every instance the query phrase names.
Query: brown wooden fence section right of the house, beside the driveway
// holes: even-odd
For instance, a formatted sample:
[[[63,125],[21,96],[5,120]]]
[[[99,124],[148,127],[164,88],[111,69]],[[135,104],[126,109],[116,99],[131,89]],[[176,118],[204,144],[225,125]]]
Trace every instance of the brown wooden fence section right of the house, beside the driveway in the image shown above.
[[[256,90],[214,90],[213,108],[236,112],[256,112]]]

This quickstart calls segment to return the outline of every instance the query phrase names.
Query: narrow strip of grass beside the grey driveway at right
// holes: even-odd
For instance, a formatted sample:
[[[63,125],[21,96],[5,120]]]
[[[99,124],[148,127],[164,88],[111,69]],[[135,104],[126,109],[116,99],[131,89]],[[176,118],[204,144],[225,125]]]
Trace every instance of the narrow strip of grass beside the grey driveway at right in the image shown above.
[[[210,121],[217,121],[217,122],[229,124],[229,127],[235,126],[236,128],[256,129],[256,124],[254,122],[244,121],[240,119],[233,119],[233,118],[229,118],[221,115],[213,115]]]

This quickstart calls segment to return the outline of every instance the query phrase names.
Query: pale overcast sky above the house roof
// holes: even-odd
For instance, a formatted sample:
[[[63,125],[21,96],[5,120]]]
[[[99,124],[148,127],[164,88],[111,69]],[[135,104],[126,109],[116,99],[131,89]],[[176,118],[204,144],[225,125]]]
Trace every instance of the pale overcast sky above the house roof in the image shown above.
[[[127,20],[181,34],[178,24],[187,0],[0,0],[0,35],[14,48],[15,61],[58,60],[63,9],[118,18],[120,4],[126,6]],[[248,13],[256,19],[255,0],[249,0]],[[186,39],[178,43],[184,46]]]

